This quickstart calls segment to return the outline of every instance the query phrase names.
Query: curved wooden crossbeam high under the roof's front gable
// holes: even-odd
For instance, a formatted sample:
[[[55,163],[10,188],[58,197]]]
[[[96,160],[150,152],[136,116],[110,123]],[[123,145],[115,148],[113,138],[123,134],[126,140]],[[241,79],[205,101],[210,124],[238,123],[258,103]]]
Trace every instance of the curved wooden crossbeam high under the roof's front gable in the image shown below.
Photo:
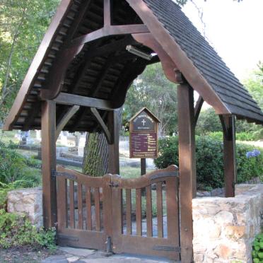
[[[70,47],[84,45],[88,42],[98,40],[101,37],[107,37],[110,35],[129,35],[136,33],[147,33],[148,28],[146,25],[110,25],[98,30],[95,30],[81,37],[77,37],[71,41]]]

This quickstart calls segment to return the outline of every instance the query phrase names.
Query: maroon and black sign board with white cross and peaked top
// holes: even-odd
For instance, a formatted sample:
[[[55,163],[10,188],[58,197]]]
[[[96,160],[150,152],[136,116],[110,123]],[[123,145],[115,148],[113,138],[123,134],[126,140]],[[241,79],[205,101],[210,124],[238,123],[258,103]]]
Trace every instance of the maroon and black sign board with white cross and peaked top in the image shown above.
[[[146,107],[129,121],[129,157],[158,157],[158,123],[160,121]]]

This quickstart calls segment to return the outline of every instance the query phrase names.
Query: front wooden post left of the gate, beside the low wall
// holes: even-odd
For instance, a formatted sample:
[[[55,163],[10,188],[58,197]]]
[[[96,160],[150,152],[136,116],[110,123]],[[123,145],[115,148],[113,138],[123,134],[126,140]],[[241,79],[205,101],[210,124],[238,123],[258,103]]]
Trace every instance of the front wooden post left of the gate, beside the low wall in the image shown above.
[[[56,103],[42,103],[42,189],[44,227],[51,228],[57,222],[57,178],[56,169]]]

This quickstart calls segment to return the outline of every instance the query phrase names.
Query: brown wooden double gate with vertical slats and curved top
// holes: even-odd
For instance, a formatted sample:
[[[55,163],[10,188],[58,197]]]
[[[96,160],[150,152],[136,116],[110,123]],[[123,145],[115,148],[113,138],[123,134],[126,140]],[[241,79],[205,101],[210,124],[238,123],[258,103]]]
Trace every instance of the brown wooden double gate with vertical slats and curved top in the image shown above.
[[[180,258],[176,166],[136,179],[56,175],[59,245]]]

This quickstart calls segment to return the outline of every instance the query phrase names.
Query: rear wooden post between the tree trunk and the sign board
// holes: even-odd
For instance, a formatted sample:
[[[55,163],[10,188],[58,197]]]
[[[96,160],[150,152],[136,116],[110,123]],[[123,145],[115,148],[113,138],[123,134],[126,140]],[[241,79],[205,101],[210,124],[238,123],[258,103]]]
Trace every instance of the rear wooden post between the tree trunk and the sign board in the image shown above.
[[[112,137],[112,144],[109,144],[109,173],[119,175],[119,110],[109,112],[108,129]]]

